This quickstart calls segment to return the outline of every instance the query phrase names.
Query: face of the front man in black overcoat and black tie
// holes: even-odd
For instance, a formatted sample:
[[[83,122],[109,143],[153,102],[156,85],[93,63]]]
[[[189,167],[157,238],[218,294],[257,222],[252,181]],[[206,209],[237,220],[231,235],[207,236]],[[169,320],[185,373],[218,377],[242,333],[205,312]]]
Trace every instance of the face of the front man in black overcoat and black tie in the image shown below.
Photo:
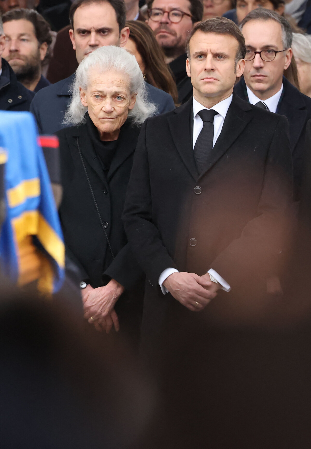
[[[235,69],[238,41],[231,35],[197,31],[190,39],[190,59],[186,61],[194,98],[227,98],[237,76],[243,74],[244,60]]]

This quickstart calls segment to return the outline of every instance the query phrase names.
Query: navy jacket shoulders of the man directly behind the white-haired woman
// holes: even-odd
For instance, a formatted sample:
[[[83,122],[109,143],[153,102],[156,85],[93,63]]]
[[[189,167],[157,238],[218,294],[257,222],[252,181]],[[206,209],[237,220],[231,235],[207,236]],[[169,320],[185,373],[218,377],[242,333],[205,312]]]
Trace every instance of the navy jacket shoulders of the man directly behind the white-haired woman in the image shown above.
[[[35,115],[39,134],[54,134],[65,125],[62,124],[65,111],[70,101],[69,88],[74,80],[74,74],[52,86],[41,89],[30,106],[30,112]],[[146,83],[147,99],[156,104],[158,114],[163,114],[175,108],[173,98],[168,93]]]

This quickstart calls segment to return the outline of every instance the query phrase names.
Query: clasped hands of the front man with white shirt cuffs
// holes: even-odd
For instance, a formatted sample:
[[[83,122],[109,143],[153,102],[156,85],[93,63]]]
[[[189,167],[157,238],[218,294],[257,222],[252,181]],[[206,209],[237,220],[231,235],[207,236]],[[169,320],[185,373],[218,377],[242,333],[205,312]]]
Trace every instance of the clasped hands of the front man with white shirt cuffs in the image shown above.
[[[212,284],[215,282],[210,281],[209,275],[207,278],[206,275],[198,276],[186,272],[172,273],[163,282],[170,294],[192,312],[203,310],[210,300],[215,298],[216,292],[212,291]]]

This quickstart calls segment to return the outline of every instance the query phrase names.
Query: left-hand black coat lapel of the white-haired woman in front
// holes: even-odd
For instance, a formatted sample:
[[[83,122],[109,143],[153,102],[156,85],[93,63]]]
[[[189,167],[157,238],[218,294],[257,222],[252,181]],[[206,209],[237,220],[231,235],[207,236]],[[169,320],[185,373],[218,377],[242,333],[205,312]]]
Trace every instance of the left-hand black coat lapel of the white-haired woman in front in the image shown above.
[[[95,150],[93,148],[91,139],[87,133],[86,124],[83,123],[76,132],[73,133],[73,146],[77,149],[78,152],[78,143],[79,142],[79,148],[82,154],[82,158],[84,159],[84,162],[86,162],[86,171],[88,171],[88,165],[97,173],[99,178],[105,182],[105,176],[103,169],[99,163],[99,160],[97,158],[97,155],[95,153]],[[80,158],[80,155],[78,153],[78,157]]]

